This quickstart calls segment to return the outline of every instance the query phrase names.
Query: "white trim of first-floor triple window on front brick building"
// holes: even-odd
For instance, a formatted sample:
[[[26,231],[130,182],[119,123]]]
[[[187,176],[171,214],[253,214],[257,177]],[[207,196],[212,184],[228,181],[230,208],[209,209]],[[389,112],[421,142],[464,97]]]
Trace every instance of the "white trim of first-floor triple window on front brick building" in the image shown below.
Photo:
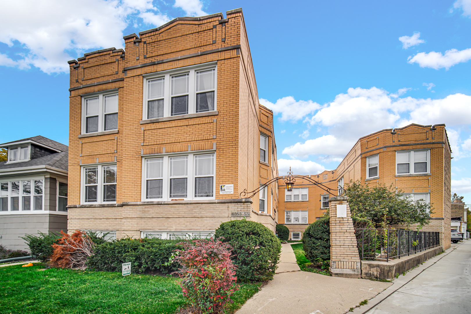
[[[195,197],[195,177],[211,177],[211,176],[195,176],[195,155],[214,155],[213,165],[213,191],[214,196],[212,197]],[[156,154],[146,155],[142,157],[142,180],[141,180],[141,201],[170,201],[175,198],[170,197],[170,157],[183,157],[188,156],[188,175],[181,176],[187,177],[187,197],[183,197],[187,200],[215,200],[216,199],[216,151],[195,151],[195,152],[180,152],[180,153],[169,153],[169,154]],[[162,198],[161,199],[147,199],[146,198],[146,160],[153,158],[163,158],[163,178],[162,178]],[[178,199],[180,199],[179,197]]]

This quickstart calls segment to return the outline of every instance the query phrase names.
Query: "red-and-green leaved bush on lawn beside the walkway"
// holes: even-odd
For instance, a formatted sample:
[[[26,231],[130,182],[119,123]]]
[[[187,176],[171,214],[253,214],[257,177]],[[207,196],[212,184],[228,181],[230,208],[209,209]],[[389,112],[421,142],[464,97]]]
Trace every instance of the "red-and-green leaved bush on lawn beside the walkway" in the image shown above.
[[[219,313],[238,287],[235,265],[230,259],[231,246],[210,240],[179,243],[175,261],[182,268],[179,274],[183,295],[200,313]]]

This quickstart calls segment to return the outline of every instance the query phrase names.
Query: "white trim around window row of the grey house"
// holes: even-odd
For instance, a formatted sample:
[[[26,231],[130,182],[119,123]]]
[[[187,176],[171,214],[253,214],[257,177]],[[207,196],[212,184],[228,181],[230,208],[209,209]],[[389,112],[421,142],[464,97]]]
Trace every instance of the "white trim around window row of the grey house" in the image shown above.
[[[42,180],[42,209],[40,210],[34,210],[34,180]],[[31,181],[31,209],[30,210],[23,210],[23,181]],[[34,176],[34,177],[14,177],[14,178],[5,178],[5,179],[0,179],[0,183],[6,183],[8,182],[8,196],[3,196],[3,197],[8,197],[8,204],[7,208],[8,210],[0,211],[0,215],[3,214],[33,214],[33,213],[41,213],[44,214],[46,211],[44,210],[44,193],[45,193],[45,188],[44,188],[44,182],[45,182],[45,177],[44,176]],[[18,195],[15,195],[14,197],[18,196],[18,210],[11,210],[11,182],[19,182],[19,193]],[[47,212],[55,212],[55,211],[47,211]]]

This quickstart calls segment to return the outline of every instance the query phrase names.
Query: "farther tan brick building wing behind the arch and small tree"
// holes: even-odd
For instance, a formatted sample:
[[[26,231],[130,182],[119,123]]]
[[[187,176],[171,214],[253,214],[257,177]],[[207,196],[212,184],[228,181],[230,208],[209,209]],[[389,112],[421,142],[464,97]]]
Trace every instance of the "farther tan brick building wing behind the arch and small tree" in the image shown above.
[[[337,194],[338,186],[361,179],[368,185],[392,185],[410,200],[430,202],[431,221],[422,231],[439,231],[440,245],[447,249],[451,245],[450,167],[451,149],[444,124],[410,124],[400,129],[384,129],[361,137],[337,169],[311,175],[332,189],[330,194],[306,180],[298,180],[289,193],[283,180],[279,180],[277,222],[290,229],[290,238],[301,238],[308,224],[325,213],[328,198]],[[461,213],[463,215],[463,211]]]

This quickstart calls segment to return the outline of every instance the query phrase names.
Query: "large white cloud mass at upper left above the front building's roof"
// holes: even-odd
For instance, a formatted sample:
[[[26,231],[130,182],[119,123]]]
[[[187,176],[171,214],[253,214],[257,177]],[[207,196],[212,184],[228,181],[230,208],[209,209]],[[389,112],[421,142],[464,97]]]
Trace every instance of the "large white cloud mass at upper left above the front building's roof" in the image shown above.
[[[152,0],[83,0],[80,5],[63,0],[3,1],[0,41],[12,47],[19,42],[27,51],[14,61],[0,57],[0,64],[20,69],[31,65],[43,72],[68,72],[68,60],[87,49],[122,48],[123,30],[133,16],[160,26],[169,21]]]

